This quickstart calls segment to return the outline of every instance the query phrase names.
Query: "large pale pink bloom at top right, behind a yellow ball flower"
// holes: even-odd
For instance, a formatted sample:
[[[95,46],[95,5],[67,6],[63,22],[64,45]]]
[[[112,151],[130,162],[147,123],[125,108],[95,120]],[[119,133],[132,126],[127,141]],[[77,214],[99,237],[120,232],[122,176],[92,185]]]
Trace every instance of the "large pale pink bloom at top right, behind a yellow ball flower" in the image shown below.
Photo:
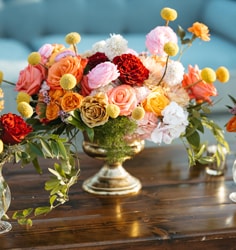
[[[157,26],[146,35],[146,46],[151,54],[166,55],[163,48],[167,42],[178,42],[176,33],[169,26]]]

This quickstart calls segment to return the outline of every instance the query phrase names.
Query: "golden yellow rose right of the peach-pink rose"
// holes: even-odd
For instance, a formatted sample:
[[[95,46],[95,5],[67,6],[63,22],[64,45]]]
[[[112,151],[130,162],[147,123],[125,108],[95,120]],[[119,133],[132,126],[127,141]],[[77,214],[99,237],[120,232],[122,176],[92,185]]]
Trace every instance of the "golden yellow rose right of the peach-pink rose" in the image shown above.
[[[162,87],[155,88],[144,100],[143,108],[156,116],[161,116],[162,110],[170,103]]]

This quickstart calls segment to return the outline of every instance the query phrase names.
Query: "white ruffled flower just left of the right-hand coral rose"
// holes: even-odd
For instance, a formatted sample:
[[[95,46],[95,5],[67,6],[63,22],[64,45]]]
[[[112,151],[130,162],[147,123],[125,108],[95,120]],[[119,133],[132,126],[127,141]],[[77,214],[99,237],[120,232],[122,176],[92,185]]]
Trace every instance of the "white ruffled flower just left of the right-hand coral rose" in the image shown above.
[[[164,74],[165,68],[162,69],[162,74]],[[164,81],[171,86],[179,84],[183,80],[184,66],[179,61],[169,61],[167,65],[166,74],[164,76]]]

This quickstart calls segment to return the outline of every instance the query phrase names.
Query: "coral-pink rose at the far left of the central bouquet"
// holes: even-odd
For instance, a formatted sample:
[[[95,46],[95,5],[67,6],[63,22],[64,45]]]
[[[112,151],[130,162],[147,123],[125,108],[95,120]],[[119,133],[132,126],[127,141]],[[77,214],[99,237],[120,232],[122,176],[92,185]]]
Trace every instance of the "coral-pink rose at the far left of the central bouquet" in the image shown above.
[[[26,92],[29,95],[37,94],[44,79],[45,69],[41,65],[28,65],[20,71],[16,90]]]

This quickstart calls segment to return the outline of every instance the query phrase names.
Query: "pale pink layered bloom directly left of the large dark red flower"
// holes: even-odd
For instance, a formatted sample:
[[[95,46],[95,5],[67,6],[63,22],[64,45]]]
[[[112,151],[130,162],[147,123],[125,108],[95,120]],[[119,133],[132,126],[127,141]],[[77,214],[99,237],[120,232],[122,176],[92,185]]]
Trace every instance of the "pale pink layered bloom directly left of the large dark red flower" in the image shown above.
[[[106,86],[120,76],[117,66],[111,62],[98,64],[88,73],[88,86],[97,89]]]

